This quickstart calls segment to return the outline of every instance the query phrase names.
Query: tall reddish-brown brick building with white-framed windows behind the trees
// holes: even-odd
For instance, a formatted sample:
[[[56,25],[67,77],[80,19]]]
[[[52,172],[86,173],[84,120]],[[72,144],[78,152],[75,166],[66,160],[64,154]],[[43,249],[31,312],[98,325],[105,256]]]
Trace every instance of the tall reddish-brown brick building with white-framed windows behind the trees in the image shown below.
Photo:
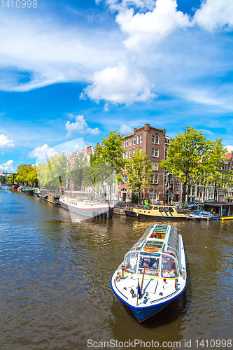
[[[134,129],[132,134],[126,135],[123,141],[125,149],[125,158],[131,158],[137,150],[144,151],[150,160],[153,172],[150,174],[150,187],[143,190],[143,199],[150,198],[153,204],[158,200],[160,202],[169,202],[181,199],[181,181],[167,174],[160,168],[159,163],[165,160],[169,148],[171,137],[166,136],[165,129],[157,129],[145,124],[144,127]],[[124,183],[117,188],[117,197],[119,200],[127,201],[132,193],[127,186],[127,173],[123,172]],[[138,193],[135,193],[138,195]]]

